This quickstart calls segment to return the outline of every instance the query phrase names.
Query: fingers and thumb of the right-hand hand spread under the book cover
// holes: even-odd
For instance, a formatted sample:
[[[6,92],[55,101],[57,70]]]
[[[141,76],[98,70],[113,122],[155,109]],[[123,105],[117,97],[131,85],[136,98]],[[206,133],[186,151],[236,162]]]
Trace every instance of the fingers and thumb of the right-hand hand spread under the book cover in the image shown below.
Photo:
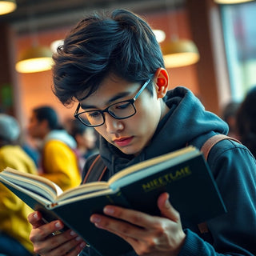
[[[103,209],[104,214],[113,218],[102,214],[93,214],[90,221],[98,228],[118,234],[126,240],[129,237],[135,239],[142,238],[145,232],[150,233],[151,230],[162,232],[166,228],[167,219],[175,223],[175,225],[169,224],[170,229],[172,226],[176,229],[176,224],[178,224],[180,230],[182,230],[179,213],[171,206],[169,194],[163,193],[160,195],[158,198],[158,207],[164,218],[151,216],[137,210],[124,209],[118,206],[106,206]],[[133,225],[132,227],[131,224]]]

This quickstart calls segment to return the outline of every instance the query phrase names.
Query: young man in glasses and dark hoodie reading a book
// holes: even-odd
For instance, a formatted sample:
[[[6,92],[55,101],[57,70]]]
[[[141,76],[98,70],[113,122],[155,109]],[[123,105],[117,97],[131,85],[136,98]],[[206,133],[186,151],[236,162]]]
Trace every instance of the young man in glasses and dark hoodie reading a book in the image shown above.
[[[204,110],[190,90],[178,87],[167,93],[169,77],[158,42],[146,22],[129,11],[82,20],[54,62],[54,93],[63,104],[78,101],[75,117],[100,134],[99,154],[107,166],[103,180],[188,144],[201,148],[207,138],[228,132],[226,123]],[[208,159],[227,207],[227,214],[207,222],[208,234],[201,234],[197,223],[181,223],[171,206],[172,195],[169,201],[166,193],[158,198],[161,217],[106,206],[104,215],[93,214],[90,221],[130,243],[134,251],[129,256],[252,256],[255,159],[246,147],[229,140],[218,142]],[[85,174],[89,167],[88,160]],[[38,254],[98,255],[74,231],[51,236],[62,229],[62,222],[43,224],[41,218],[39,212],[29,216],[30,239]]]

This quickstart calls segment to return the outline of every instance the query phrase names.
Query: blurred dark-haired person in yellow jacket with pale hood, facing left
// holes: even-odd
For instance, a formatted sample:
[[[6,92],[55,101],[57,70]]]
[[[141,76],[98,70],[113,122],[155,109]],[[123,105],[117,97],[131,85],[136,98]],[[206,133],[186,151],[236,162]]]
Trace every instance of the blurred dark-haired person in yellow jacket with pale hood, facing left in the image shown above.
[[[39,173],[62,188],[70,189],[81,182],[76,142],[66,130],[61,129],[58,114],[50,106],[32,110],[28,133],[41,140],[41,167]]]

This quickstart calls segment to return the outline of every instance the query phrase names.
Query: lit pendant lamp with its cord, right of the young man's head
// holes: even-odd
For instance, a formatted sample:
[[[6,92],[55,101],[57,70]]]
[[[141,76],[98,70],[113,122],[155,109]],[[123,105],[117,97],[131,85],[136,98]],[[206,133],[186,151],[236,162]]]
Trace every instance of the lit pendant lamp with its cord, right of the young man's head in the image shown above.
[[[173,0],[171,0],[171,2],[173,9],[175,10],[175,2]],[[168,8],[167,0],[166,7],[166,10],[170,10],[170,8]],[[167,13],[169,26],[172,28],[170,31],[172,37],[169,41],[163,42],[161,47],[166,68],[189,66],[198,62],[200,58],[198,48],[193,41],[178,38],[178,24],[175,17],[176,13],[177,12],[175,11],[172,18],[170,18],[170,12]]]

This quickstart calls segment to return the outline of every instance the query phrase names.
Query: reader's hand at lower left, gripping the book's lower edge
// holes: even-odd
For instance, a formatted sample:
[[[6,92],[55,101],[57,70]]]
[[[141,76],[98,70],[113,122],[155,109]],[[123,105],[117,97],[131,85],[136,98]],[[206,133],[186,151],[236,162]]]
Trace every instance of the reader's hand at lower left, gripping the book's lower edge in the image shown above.
[[[86,246],[86,242],[72,230],[56,234],[64,227],[61,221],[46,224],[42,222],[42,215],[38,211],[30,214],[28,220],[33,226],[30,240],[34,252],[41,256],[77,256]]]

